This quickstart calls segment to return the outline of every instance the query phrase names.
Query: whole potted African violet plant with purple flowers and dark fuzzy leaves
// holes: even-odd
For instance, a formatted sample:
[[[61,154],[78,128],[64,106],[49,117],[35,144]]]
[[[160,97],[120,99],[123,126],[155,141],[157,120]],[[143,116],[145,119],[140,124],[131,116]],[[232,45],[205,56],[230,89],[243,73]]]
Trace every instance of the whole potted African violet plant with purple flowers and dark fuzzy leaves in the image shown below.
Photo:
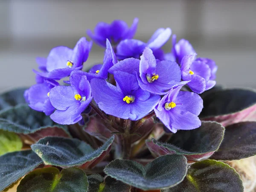
[[[103,64],[82,70],[83,37],[37,58],[35,85],[0,96],[0,190],[244,191],[226,163],[256,154],[256,92],[214,87],[212,59],[176,35],[165,54],[169,28],[132,39],[137,24],[88,30]]]

